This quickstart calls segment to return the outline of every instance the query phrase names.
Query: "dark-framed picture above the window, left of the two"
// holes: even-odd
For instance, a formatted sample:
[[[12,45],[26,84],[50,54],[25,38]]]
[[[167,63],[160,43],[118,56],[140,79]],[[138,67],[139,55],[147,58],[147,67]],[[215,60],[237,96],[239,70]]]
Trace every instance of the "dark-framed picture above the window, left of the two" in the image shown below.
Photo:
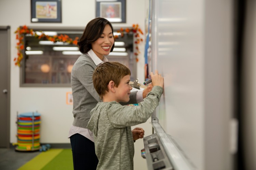
[[[31,0],[31,22],[61,22],[61,0]]]

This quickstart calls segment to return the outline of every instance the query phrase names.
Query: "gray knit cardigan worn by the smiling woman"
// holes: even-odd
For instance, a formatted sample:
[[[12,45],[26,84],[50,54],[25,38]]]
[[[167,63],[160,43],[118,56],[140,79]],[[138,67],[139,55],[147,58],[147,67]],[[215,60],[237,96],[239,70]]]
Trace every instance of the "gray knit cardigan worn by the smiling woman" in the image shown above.
[[[101,102],[93,86],[93,71],[96,67],[88,54],[82,54],[75,62],[71,71],[73,125],[80,128],[87,128],[91,109],[98,102]],[[126,104],[137,103],[136,93],[132,92],[130,101]]]

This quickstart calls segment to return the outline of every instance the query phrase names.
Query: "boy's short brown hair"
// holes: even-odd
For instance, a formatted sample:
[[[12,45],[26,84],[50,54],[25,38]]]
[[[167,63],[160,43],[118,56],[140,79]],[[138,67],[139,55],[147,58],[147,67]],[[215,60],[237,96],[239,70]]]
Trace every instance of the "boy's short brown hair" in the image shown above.
[[[102,99],[109,89],[108,84],[112,80],[115,87],[118,87],[120,80],[126,75],[131,75],[131,71],[125,65],[118,62],[105,62],[98,66],[93,73],[93,85]]]

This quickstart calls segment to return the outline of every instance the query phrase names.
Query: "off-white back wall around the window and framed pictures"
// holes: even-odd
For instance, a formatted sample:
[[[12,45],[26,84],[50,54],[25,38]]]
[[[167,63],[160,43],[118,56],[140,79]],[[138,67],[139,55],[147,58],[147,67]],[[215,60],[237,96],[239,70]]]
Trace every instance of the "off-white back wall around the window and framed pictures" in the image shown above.
[[[126,1],[126,23],[115,23],[114,27],[131,27],[138,23],[142,30],[145,25],[146,0]],[[85,27],[95,18],[95,0],[62,0],[62,23],[31,23],[30,0],[0,0],[0,25],[11,26],[11,113],[10,142],[16,142],[16,112],[41,113],[41,143],[69,143],[68,132],[73,122],[72,105],[66,105],[66,92],[71,88],[64,87],[19,87],[19,67],[13,59],[17,55],[15,30],[19,26],[28,27]],[[138,56],[137,76],[144,80],[144,43],[140,44],[141,54]],[[136,61],[134,61],[136,62]],[[138,125],[145,129],[146,135],[152,134],[152,126],[148,121]],[[136,149],[143,148],[143,140],[136,142]],[[138,154],[138,153],[136,153]],[[134,157],[136,158],[136,157]],[[139,159],[141,161],[142,158]],[[142,160],[145,165],[145,160]],[[136,168],[135,168],[136,169]]]

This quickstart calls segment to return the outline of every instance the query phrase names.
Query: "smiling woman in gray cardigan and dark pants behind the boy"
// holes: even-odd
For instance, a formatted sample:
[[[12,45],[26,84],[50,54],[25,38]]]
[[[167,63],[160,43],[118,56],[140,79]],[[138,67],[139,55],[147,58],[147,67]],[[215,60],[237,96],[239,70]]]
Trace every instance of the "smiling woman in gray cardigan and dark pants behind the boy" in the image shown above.
[[[75,62],[71,71],[74,121],[69,132],[72,147],[74,169],[96,169],[98,158],[95,154],[93,133],[87,129],[90,111],[100,97],[94,89],[93,71],[108,59],[114,48],[113,27],[104,18],[95,18],[88,22],[84,33],[77,43],[82,55]],[[151,91],[152,86],[143,92],[132,92],[130,101],[125,104],[139,103]],[[144,130],[132,130],[133,140],[143,138]]]

